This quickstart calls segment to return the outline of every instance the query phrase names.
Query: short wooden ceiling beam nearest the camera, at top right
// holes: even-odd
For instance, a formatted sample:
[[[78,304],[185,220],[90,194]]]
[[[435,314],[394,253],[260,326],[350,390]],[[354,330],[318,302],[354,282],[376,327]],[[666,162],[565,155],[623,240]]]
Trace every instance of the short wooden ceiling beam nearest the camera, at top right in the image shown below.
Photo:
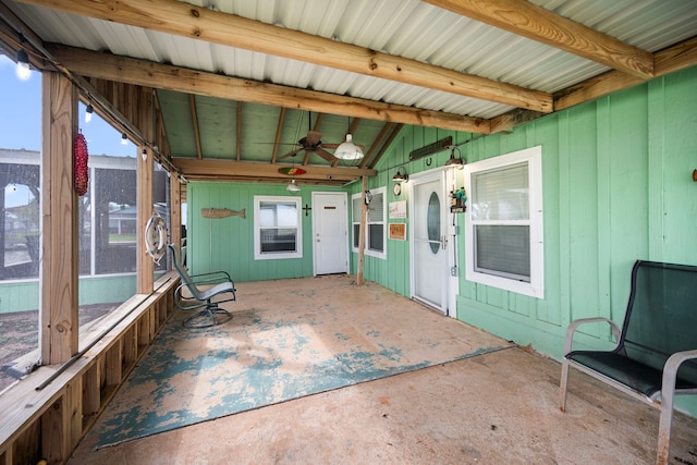
[[[426,2],[643,79],[653,77],[652,53],[525,0]]]

